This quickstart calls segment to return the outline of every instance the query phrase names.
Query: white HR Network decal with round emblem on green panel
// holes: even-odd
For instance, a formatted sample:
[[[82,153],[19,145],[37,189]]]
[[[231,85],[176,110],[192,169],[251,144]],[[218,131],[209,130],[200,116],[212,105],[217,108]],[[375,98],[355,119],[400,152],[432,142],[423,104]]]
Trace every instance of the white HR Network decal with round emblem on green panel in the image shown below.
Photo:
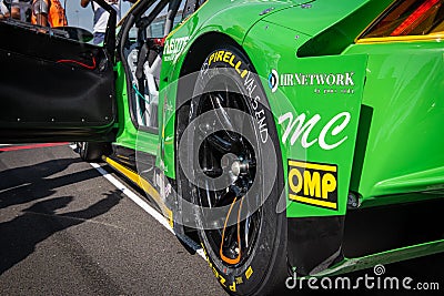
[[[341,73],[278,73],[271,70],[269,86],[271,92],[279,88],[287,86],[314,86],[314,93],[354,93],[354,72]]]

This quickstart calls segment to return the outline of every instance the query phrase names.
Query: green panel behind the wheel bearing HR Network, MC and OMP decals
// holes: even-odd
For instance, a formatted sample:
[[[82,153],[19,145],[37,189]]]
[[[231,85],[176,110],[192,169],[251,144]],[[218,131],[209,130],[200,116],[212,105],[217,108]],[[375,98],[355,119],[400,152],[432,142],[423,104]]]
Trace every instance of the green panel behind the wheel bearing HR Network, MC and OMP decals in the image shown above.
[[[276,38],[270,40],[268,34]],[[287,50],[306,39],[260,22],[244,47],[256,71],[264,73],[263,86],[281,139],[286,215],[344,215],[367,57],[297,59],[295,50]],[[274,55],[266,57],[268,52]],[[291,160],[302,164],[289,169]]]

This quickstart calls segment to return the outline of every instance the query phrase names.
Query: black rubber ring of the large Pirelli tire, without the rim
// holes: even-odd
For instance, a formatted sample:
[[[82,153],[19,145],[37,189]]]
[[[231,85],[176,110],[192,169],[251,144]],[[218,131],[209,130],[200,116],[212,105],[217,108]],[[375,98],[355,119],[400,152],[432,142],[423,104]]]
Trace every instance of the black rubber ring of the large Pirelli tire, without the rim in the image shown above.
[[[224,52],[223,54],[221,53],[222,51]],[[226,52],[229,53],[225,54]],[[216,54],[216,58],[214,58],[214,54]],[[220,59],[221,55],[228,58]],[[274,184],[272,185],[271,193],[269,196],[263,197],[265,201],[260,208],[261,227],[255,241],[255,245],[251,251],[249,258],[241,265],[231,267],[224,264],[210,247],[205,232],[200,229],[199,235],[202,247],[206,255],[208,263],[212,268],[214,276],[229,293],[240,295],[263,294],[265,290],[268,290],[266,286],[269,283],[269,286],[271,286],[271,282],[275,282],[273,279],[273,273],[275,273],[275,268],[286,269],[286,266],[276,266],[282,265],[282,262],[286,262],[282,258],[286,258],[285,212],[276,213],[278,201],[283,192],[282,156],[273,115],[270,111],[265,92],[263,91],[259,76],[254,74],[254,68],[251,65],[243,52],[234,47],[226,45],[212,51],[206,57],[201,68],[194,92],[202,92],[211,80],[218,79],[218,69],[225,70],[230,68],[231,70],[234,70],[230,71],[232,73],[232,79],[235,80],[236,85],[240,86],[240,91],[245,96],[245,103],[249,105],[250,112],[253,113],[251,115],[255,118],[255,123],[258,124],[256,129],[259,131],[259,150],[263,150],[263,142],[266,143],[268,141],[271,141],[269,144],[272,144],[274,147],[276,160],[274,165],[276,166],[276,176]],[[226,75],[226,72],[221,71],[219,75]],[[193,98],[192,105],[194,106],[191,108],[190,111],[191,120],[196,116],[196,106],[199,104],[200,99]],[[266,136],[265,132],[263,132],[264,123],[266,123]],[[195,150],[195,147],[193,149]],[[260,174],[262,178],[274,177],[268,175],[265,170],[261,170]],[[194,203],[198,203],[195,194],[193,200]],[[196,213],[196,215],[199,220],[200,213]]]

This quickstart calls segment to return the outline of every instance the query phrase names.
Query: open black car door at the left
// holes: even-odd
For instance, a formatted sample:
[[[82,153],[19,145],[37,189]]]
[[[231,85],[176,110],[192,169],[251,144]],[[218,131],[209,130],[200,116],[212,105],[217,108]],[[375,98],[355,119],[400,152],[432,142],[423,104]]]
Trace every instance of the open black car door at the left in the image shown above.
[[[102,47],[77,28],[0,22],[0,142],[111,141],[115,11]]]

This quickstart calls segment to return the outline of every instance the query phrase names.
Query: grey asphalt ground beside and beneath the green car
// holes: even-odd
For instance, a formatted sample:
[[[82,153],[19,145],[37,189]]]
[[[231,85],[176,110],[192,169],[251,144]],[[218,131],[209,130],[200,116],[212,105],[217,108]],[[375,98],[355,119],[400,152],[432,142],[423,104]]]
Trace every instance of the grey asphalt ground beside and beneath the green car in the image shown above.
[[[437,292],[320,292],[305,285],[291,294],[444,295],[443,267],[444,255],[385,266],[386,276],[438,283]],[[373,269],[350,276],[365,274],[374,276]],[[0,295],[226,294],[202,257],[190,255],[171,232],[63,145],[0,146]]]

